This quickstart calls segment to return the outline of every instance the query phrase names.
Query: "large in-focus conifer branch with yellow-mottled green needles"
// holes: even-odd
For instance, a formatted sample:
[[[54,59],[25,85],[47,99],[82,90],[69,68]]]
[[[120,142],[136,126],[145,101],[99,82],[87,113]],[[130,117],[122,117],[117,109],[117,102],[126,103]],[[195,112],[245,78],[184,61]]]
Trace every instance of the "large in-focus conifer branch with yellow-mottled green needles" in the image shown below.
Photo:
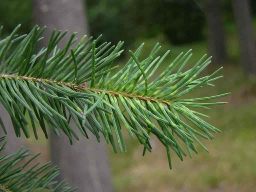
[[[110,72],[116,68],[112,67],[112,63],[123,52],[122,41],[116,46],[110,46],[107,42],[98,45],[101,36],[95,40],[92,37],[86,40],[84,37],[68,54],[69,47],[76,42],[76,33],[72,34],[63,49],[58,49],[57,44],[66,33],[61,35],[61,31],[53,31],[48,47],[36,53],[36,43],[41,39],[44,28],[40,30],[36,26],[27,36],[19,37],[15,35],[19,27],[0,41],[0,101],[8,111],[18,137],[22,132],[30,137],[25,118],[25,113],[28,113],[36,138],[38,127],[35,127],[34,122],[40,124],[46,138],[47,123],[55,134],[59,135],[59,131],[63,131],[72,144],[73,138],[79,139],[74,128],[69,125],[72,118],[84,136],[88,137],[87,131],[91,131],[100,142],[103,135],[115,152],[116,137],[122,152],[127,150],[121,130],[124,124],[129,135],[132,138],[136,136],[144,145],[143,155],[146,150],[151,152],[150,134],[153,134],[166,147],[171,163],[169,148],[181,160],[186,156],[180,141],[186,144],[191,156],[191,150],[197,153],[194,142],[208,151],[197,136],[213,139],[210,132],[220,132],[199,117],[206,115],[190,108],[210,109],[210,105],[225,104],[201,101],[229,93],[182,99],[190,91],[202,86],[213,86],[211,82],[222,78],[216,77],[222,67],[209,76],[198,77],[211,62],[211,58],[206,58],[206,55],[193,68],[183,71],[192,54],[191,50],[181,53],[150,82],[169,53],[167,51],[162,57],[157,56],[161,48],[158,43],[142,61],[138,57],[144,44],[135,52],[129,51],[131,58],[128,62],[110,76]],[[6,57],[13,41],[17,40],[19,45]]]

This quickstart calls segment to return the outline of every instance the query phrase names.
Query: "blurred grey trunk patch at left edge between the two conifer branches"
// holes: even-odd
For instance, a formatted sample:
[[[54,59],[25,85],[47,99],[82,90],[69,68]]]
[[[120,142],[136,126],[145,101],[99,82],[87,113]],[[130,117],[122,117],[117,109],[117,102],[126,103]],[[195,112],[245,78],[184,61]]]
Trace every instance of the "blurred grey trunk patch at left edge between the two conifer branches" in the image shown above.
[[[22,146],[25,146],[26,144],[25,144],[25,141],[23,140],[23,135],[21,135],[21,137],[16,137],[10,115],[5,110],[2,104],[0,104],[0,116],[4,122],[5,129],[7,131],[7,135],[6,135],[7,144],[5,145],[5,150],[0,152],[0,157],[2,157],[4,154],[9,155],[9,154],[16,153]],[[2,127],[0,127],[0,137],[4,135],[5,133]]]

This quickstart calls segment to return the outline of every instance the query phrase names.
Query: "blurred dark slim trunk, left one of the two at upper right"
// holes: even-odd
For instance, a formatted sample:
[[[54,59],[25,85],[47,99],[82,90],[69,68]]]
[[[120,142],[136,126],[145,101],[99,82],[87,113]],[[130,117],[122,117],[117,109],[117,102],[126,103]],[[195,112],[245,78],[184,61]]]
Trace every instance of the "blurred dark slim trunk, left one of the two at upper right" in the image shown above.
[[[227,59],[226,33],[222,22],[220,0],[206,0],[209,51],[212,61],[223,63]]]

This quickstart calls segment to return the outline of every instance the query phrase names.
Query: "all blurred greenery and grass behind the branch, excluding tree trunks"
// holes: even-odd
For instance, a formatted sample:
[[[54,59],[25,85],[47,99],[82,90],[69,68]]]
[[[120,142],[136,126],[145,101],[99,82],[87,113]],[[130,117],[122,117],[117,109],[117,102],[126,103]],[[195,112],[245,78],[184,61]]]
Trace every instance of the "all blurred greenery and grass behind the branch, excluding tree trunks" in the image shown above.
[[[5,35],[18,23],[22,23],[23,33],[30,30],[33,23],[33,12],[29,2],[28,0],[1,2],[0,25],[4,25]],[[123,60],[127,60],[127,50],[135,50],[142,42],[145,42],[145,46],[141,59],[150,53],[156,42],[160,42],[162,45],[159,55],[170,50],[169,56],[159,68],[158,73],[164,70],[166,65],[173,61],[180,52],[192,48],[194,55],[187,67],[194,65],[207,52],[206,25],[204,18],[200,19],[203,16],[202,12],[199,10],[196,12],[194,19],[198,23],[194,27],[193,16],[180,14],[185,13],[192,6],[186,7],[187,1],[180,1],[183,4],[171,4],[173,1],[170,0],[147,1],[152,6],[146,6],[142,2],[87,0],[91,34],[104,34],[103,40],[110,42],[125,41],[126,50],[119,65],[122,66]],[[191,2],[189,1],[189,3]],[[201,1],[193,2],[200,3]],[[239,42],[230,2],[230,0],[222,1],[229,56],[229,61],[224,63],[225,68],[221,71],[224,78],[217,81],[216,87],[204,87],[201,88],[202,91],[199,88],[189,94],[190,98],[196,98],[231,92],[228,97],[221,98],[221,101],[228,102],[227,105],[216,106],[212,111],[204,111],[210,116],[207,121],[222,130],[223,133],[216,134],[214,141],[202,141],[210,150],[209,154],[200,150],[198,146],[199,154],[194,154],[192,159],[184,158],[184,162],[180,162],[173,155],[173,170],[168,169],[165,149],[161,147],[157,139],[152,142],[153,152],[147,152],[145,157],[142,157],[143,148],[127,134],[125,140],[128,152],[114,154],[109,146],[110,164],[116,191],[226,192],[253,191],[255,189],[256,136],[253,120],[256,109],[256,85],[247,81],[247,77],[243,73],[243,66],[240,65]],[[167,6],[168,3],[173,6]],[[255,15],[256,1],[251,1],[251,3]],[[179,19],[175,18],[177,13],[180,14]],[[169,22],[163,23],[163,19],[166,17],[169,17]],[[253,19],[253,25],[256,29],[256,19]],[[180,31],[185,34],[182,36],[183,38],[177,37],[177,33]],[[194,33],[196,36],[193,35]],[[211,65],[203,73],[207,74],[218,67]],[[47,152],[49,145],[42,138],[39,141],[31,138],[27,142],[31,146],[37,146],[32,150],[45,150],[42,161],[47,161],[49,160]]]

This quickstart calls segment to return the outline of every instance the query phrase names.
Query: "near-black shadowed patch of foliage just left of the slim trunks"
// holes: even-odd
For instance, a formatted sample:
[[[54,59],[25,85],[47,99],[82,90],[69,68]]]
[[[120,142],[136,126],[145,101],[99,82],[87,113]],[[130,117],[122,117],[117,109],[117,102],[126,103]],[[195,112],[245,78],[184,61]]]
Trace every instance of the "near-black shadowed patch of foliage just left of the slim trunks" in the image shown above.
[[[195,1],[164,0],[159,5],[158,10],[164,11],[155,23],[158,23],[157,20],[162,21],[164,34],[172,44],[190,43],[204,38],[205,14]]]

